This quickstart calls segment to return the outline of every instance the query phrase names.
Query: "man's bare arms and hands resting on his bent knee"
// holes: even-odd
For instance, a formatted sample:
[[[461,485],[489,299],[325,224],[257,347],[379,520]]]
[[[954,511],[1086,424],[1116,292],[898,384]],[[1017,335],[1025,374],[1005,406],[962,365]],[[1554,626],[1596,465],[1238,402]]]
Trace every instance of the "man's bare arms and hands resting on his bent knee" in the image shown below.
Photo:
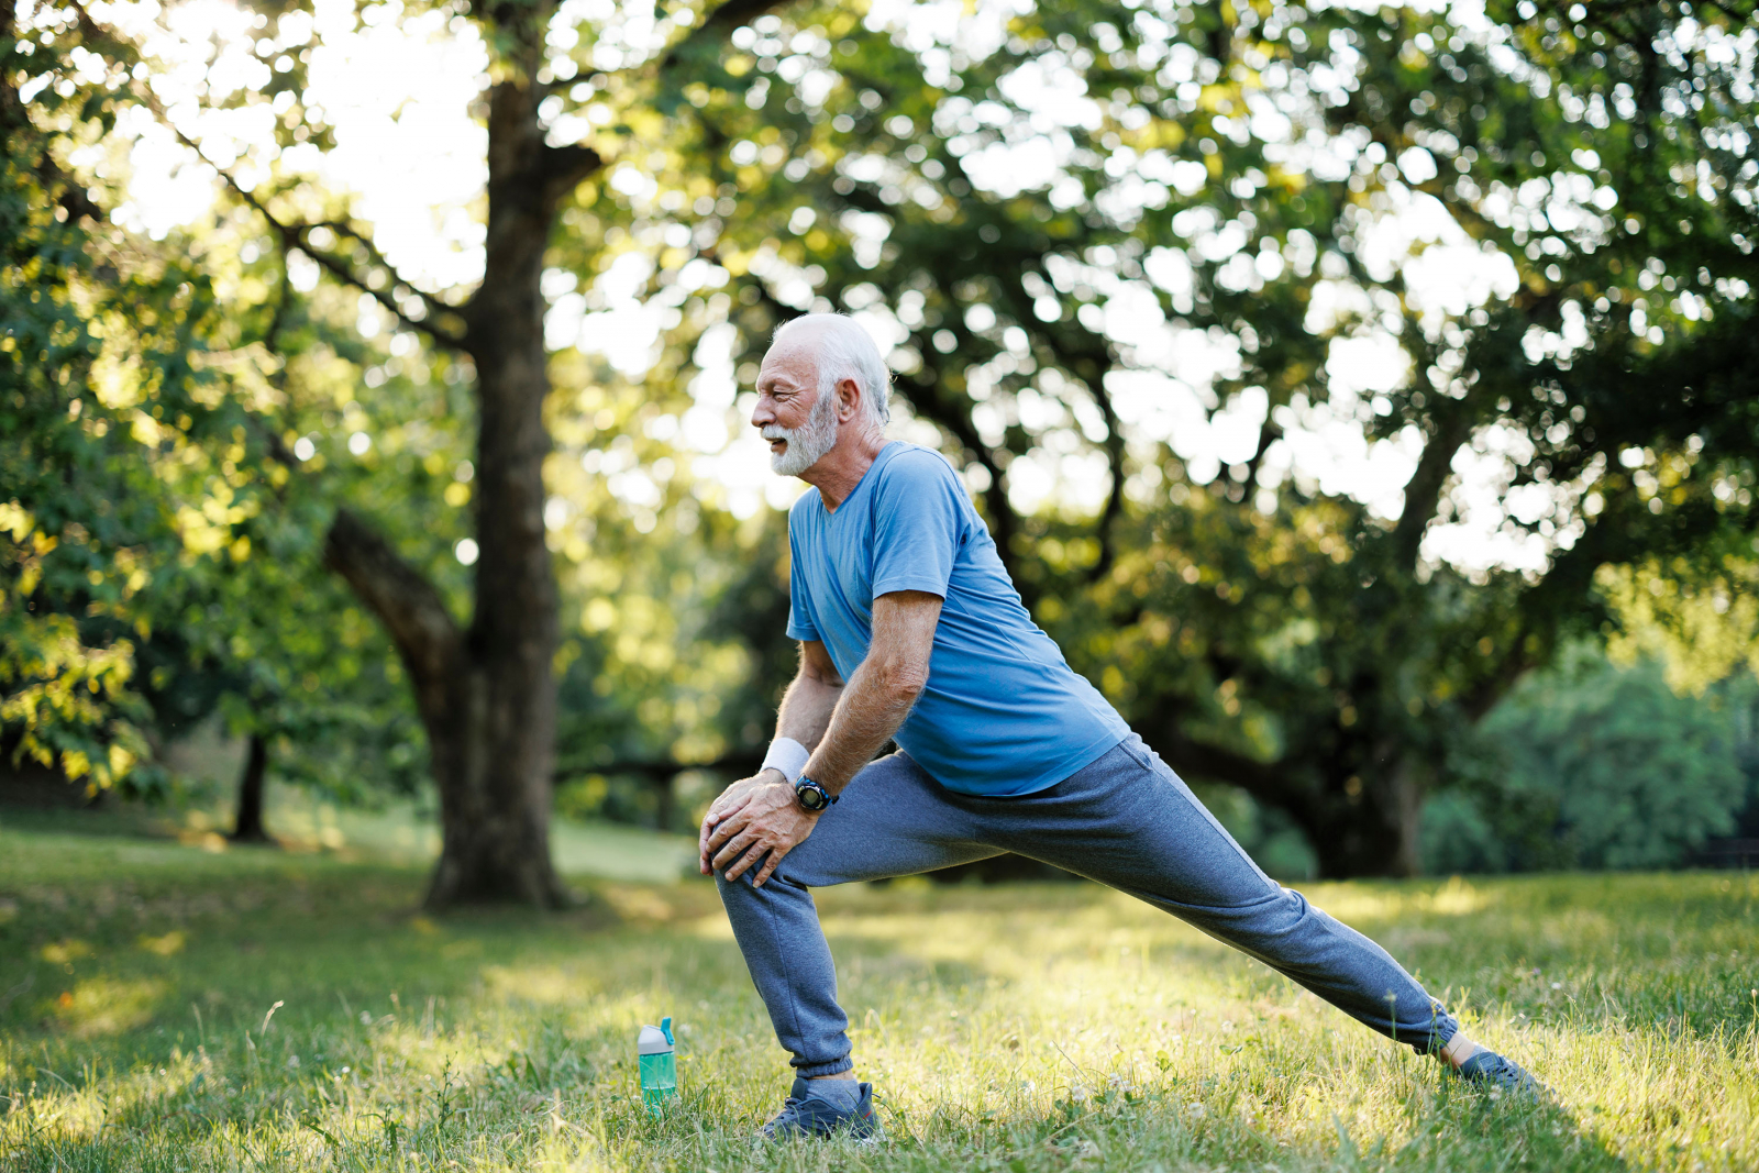
[[[894,591],[876,598],[867,659],[848,684],[836,677],[823,644],[800,645],[800,674],[788,686],[777,732],[816,746],[806,763],[807,777],[836,795],[897,732],[929,681],[939,619],[938,594]],[[820,814],[800,809],[793,786],[777,770],[741,779],[702,820],[702,872],[725,869],[732,881],[762,863],[751,878],[762,885],[813,834]]]

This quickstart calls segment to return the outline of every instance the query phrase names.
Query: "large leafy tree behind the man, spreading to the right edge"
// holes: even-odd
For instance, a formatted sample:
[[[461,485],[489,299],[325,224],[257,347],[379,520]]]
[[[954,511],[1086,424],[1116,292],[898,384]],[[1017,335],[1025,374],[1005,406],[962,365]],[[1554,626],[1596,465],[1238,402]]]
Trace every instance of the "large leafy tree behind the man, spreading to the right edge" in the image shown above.
[[[777,12],[686,90],[691,165],[589,213],[681,308],[679,380],[719,324],[735,361],[807,308],[888,332],[913,434],[1150,744],[1325,874],[1409,874],[1458,732],[1595,628],[1599,568],[1752,535],[1741,12],[1082,5],[978,49]],[[1423,288],[1425,253],[1497,267]],[[1356,341],[1372,394],[1326,375]],[[1142,434],[1170,410],[1233,454]],[[1310,480],[1286,436],[1328,420],[1404,450],[1402,492]],[[1031,508],[1066,461],[1103,491]],[[1449,550],[1472,510],[1509,554]]]

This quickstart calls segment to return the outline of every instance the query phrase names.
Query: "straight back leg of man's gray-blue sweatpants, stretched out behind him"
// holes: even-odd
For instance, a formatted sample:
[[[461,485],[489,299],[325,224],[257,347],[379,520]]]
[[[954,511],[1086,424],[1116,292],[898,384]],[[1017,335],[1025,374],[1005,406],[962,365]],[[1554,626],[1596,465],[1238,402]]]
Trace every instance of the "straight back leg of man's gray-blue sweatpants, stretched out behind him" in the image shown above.
[[[1142,739],[1013,802],[1004,834],[985,820],[990,842],[1147,900],[1420,1053],[1458,1031],[1386,950],[1265,876]]]

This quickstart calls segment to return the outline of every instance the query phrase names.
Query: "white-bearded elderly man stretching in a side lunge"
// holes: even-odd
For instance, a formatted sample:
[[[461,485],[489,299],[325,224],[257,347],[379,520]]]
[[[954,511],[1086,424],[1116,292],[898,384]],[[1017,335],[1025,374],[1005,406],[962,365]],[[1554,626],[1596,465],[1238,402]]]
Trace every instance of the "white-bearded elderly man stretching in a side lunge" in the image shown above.
[[[714,800],[698,846],[793,1055],[765,1134],[880,1131],[811,890],[1003,851],[1166,909],[1471,1082],[1530,1087],[1381,946],[1266,878],[1068,667],[952,466],[887,441],[888,383],[865,331],[828,313],[783,325],[758,373],[770,464],[813,485],[788,515],[800,672],[763,769]]]

